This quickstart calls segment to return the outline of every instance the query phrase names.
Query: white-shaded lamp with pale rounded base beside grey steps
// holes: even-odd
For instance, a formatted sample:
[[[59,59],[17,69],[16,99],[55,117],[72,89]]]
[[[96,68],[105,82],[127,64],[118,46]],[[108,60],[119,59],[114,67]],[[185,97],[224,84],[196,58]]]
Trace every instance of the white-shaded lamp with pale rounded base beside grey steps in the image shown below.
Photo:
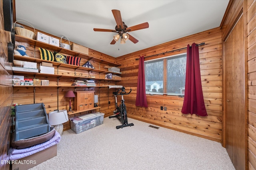
[[[56,110],[52,111],[48,114],[49,124],[54,126],[54,129],[62,135],[63,132],[63,125],[68,121],[68,113],[67,110]]]

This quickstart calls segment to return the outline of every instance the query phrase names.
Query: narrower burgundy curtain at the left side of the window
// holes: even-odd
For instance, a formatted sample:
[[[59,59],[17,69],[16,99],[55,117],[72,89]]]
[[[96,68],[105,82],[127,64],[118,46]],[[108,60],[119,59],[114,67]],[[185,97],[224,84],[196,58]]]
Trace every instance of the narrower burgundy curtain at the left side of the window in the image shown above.
[[[144,74],[144,56],[140,56],[136,106],[148,107],[148,103],[146,99],[146,84],[145,84],[145,74]]]

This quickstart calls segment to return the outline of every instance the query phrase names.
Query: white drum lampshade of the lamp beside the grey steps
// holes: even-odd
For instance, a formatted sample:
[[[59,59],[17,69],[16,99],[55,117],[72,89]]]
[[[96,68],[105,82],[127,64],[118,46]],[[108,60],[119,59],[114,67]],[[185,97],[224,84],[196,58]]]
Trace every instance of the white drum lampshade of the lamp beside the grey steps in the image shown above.
[[[52,111],[48,114],[50,125],[59,125],[68,121],[67,110]]]

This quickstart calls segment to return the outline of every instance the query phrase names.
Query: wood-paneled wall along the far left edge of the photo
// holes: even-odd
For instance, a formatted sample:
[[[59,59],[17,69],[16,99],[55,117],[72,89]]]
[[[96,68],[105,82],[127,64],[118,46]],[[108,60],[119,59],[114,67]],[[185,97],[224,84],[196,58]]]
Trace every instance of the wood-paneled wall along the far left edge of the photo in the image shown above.
[[[7,45],[11,41],[10,32],[4,30],[3,1],[0,0],[0,160],[10,157],[10,130],[12,104],[12,70],[8,63]],[[8,170],[10,164],[0,164],[1,170]]]

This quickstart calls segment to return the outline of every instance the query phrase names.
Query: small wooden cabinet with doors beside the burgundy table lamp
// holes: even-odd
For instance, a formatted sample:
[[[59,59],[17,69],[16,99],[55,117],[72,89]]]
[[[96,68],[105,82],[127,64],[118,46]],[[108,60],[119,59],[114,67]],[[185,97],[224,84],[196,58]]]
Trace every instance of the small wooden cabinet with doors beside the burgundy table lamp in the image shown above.
[[[75,92],[75,110],[91,110],[94,109],[94,91]]]

